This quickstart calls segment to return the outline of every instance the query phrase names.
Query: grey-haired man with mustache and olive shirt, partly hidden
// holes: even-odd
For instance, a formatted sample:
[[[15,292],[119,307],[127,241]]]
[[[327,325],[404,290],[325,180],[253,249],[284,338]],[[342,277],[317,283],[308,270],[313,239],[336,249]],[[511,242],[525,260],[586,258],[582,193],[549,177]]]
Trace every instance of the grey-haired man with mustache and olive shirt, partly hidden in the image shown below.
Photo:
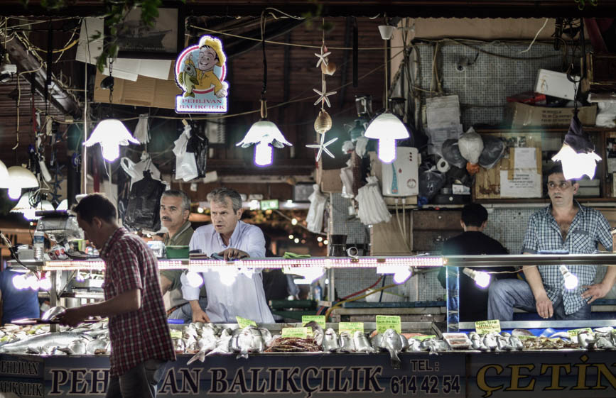
[[[170,190],[163,192],[161,197],[161,223],[165,233],[165,246],[188,246],[193,237],[193,226],[188,221],[190,216],[190,199],[185,192]],[[182,284],[180,276],[182,270],[161,271],[161,292],[163,296],[169,292],[171,308],[168,309],[169,319],[183,319],[190,322],[193,319],[193,310],[190,304],[182,297]],[[200,305],[206,306],[205,288],[200,291]]]

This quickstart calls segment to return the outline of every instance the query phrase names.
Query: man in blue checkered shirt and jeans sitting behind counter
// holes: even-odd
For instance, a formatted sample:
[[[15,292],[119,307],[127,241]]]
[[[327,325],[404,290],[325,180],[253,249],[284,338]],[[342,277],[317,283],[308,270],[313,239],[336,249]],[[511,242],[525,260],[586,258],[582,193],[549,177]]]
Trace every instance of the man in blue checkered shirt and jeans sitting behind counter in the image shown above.
[[[524,236],[524,254],[540,250],[568,250],[571,254],[594,253],[601,243],[612,251],[610,224],[595,209],[573,200],[580,185],[567,180],[560,163],[548,172],[551,205],[529,219]],[[524,266],[523,280],[498,280],[490,286],[488,319],[511,321],[513,307],[536,311],[544,319],[590,319],[590,303],[605,297],[616,280],[616,267],[608,267],[603,281],[593,284],[596,265],[570,265],[578,287],[566,289],[555,265]]]

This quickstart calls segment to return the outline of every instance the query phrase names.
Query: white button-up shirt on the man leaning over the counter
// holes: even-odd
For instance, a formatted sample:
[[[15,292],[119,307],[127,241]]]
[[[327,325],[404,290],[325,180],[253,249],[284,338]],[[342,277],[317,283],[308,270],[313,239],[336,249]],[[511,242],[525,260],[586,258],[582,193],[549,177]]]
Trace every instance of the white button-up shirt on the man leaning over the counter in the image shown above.
[[[190,250],[200,249],[201,253],[212,255],[227,248],[242,250],[251,258],[265,257],[265,238],[257,226],[237,221],[235,230],[229,239],[229,245],[222,242],[222,236],[217,233],[212,224],[201,226],[190,239]],[[259,324],[273,324],[269,306],[265,299],[263,277],[261,270],[256,270],[251,276],[239,273],[234,282],[227,286],[223,283],[218,271],[202,272],[205,290],[207,292],[207,308],[205,313],[214,323],[236,323],[235,316],[252,319]],[[182,274],[182,293],[186,300],[199,299],[199,287],[190,287],[185,274]]]

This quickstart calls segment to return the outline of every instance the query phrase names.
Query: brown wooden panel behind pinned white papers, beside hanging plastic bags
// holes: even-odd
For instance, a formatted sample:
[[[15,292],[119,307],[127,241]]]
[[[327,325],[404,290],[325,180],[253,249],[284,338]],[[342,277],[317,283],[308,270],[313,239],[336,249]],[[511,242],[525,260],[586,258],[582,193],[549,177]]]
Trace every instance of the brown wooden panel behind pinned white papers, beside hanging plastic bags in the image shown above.
[[[491,134],[505,140],[507,149],[501,160],[486,170],[483,167],[475,175],[475,184],[472,187],[473,199],[501,199],[500,196],[500,172],[509,171],[509,177],[513,176],[514,160],[510,156],[511,148],[536,148],[537,172],[541,174],[541,133],[482,133],[482,136]]]

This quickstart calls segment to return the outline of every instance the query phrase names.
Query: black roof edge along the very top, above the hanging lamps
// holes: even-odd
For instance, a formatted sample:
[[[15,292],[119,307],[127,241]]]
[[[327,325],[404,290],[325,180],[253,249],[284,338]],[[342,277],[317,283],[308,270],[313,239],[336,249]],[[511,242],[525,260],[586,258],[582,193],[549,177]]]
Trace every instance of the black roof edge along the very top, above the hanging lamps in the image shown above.
[[[594,6],[593,1],[597,3]],[[92,16],[104,13],[104,1],[65,0],[67,6],[49,10],[40,0],[4,0],[0,15]],[[27,3],[27,8],[24,4]],[[52,2],[48,2],[52,3]],[[616,11],[615,0],[285,0],[246,1],[187,0],[189,15],[195,16],[259,16],[266,7],[293,15],[311,12],[318,16],[387,16],[475,17],[475,18],[538,18],[538,17],[605,17]],[[580,10],[581,9],[581,10]]]

